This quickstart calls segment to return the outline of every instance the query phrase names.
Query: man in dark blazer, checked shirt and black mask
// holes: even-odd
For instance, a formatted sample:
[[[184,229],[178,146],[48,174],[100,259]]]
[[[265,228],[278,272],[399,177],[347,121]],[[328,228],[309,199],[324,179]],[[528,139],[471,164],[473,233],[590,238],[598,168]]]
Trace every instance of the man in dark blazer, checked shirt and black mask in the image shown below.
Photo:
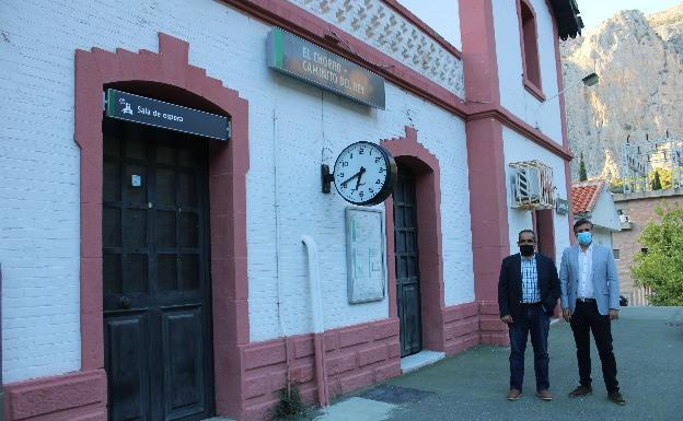
[[[555,264],[535,253],[536,234],[523,230],[518,235],[520,253],[502,259],[498,279],[500,319],[510,334],[510,391],[508,400],[522,396],[524,351],[531,332],[536,373],[536,396],[552,400],[548,381],[547,336],[557,299],[559,279]]]

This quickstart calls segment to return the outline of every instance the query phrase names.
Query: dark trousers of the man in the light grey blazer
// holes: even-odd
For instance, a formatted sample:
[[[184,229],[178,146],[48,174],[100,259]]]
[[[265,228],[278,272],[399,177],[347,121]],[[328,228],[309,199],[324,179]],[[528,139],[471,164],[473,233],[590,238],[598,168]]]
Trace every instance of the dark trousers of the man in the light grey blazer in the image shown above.
[[[602,363],[602,377],[607,391],[618,391],[616,381],[616,360],[612,351],[612,329],[610,316],[603,316],[598,312],[594,301],[577,301],[571,315],[571,330],[577,346],[577,361],[579,363],[579,383],[591,386],[591,360],[590,360],[590,331],[593,331],[595,348]]]

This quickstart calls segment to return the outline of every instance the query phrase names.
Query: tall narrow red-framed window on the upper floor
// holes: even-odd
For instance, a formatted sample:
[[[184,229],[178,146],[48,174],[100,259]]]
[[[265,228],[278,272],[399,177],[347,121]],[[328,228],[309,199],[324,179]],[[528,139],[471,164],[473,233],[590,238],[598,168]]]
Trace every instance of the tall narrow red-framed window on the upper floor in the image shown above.
[[[524,87],[539,100],[544,100],[541,90],[541,69],[539,66],[539,36],[536,16],[526,0],[518,0],[520,17],[520,36],[522,44],[522,66]]]

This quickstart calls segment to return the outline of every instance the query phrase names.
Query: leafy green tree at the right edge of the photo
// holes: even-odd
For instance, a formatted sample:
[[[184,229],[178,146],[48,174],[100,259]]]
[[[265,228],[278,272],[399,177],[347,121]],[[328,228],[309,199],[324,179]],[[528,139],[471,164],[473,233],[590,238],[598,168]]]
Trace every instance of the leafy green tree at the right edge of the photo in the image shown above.
[[[638,286],[647,286],[653,305],[683,305],[683,209],[655,209],[638,242],[647,253],[635,256],[630,271]]]

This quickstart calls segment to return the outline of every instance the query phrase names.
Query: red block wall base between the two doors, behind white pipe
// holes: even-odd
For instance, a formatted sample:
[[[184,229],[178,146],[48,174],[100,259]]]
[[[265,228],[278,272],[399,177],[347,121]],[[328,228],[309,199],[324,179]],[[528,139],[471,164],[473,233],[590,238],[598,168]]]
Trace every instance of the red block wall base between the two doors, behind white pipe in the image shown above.
[[[323,336],[331,397],[401,374],[398,319],[395,317],[328,330]],[[270,419],[279,401],[279,391],[287,387],[288,360],[291,378],[298,384],[303,400],[316,402],[313,334],[242,344],[239,365],[244,381],[239,391],[244,409],[240,420]]]

